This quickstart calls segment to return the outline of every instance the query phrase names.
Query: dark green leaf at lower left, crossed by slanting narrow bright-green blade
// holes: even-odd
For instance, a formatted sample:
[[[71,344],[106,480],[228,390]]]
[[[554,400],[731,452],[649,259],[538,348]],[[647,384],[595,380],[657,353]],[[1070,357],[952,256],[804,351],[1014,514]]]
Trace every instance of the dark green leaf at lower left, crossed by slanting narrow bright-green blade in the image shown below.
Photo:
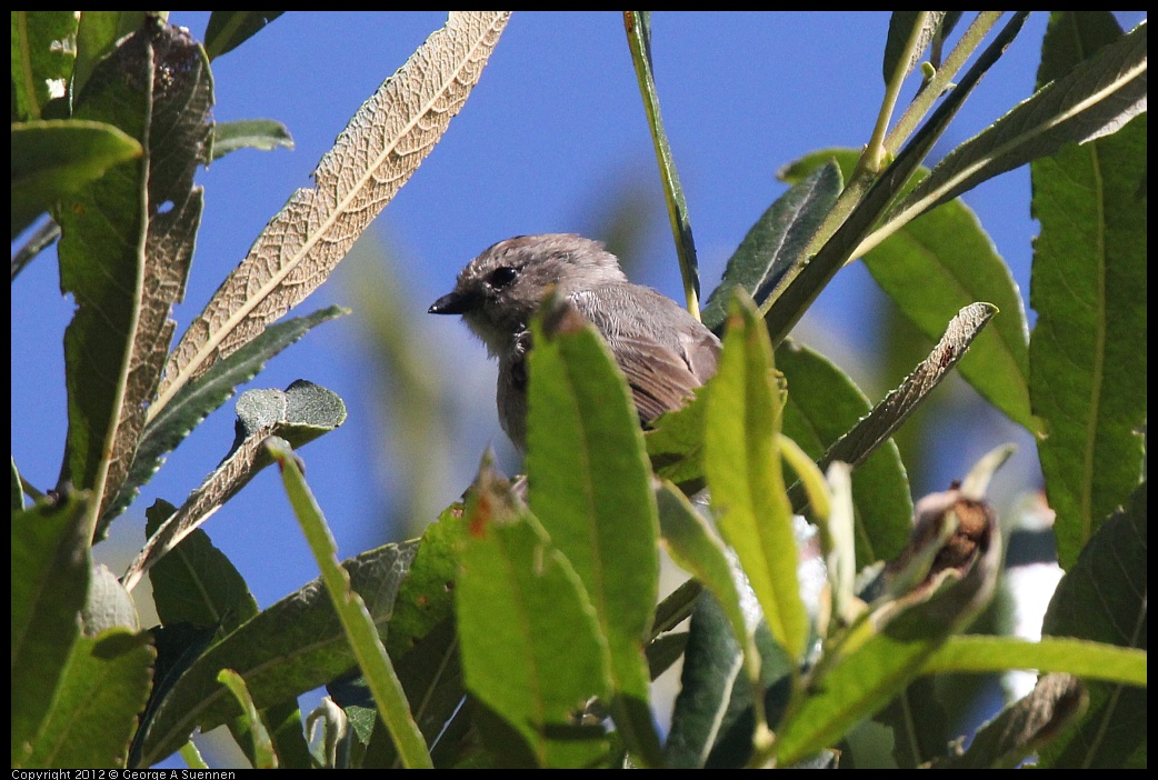
[[[412,542],[390,544],[343,564],[380,627],[390,620],[416,547]],[[334,604],[321,581],[314,580],[197,660],[162,704],[146,737],[142,765],[152,766],[181,748],[195,728],[208,730],[239,713],[236,702],[215,683],[221,669],[242,675],[257,706],[267,707],[324,685],[353,664]]]

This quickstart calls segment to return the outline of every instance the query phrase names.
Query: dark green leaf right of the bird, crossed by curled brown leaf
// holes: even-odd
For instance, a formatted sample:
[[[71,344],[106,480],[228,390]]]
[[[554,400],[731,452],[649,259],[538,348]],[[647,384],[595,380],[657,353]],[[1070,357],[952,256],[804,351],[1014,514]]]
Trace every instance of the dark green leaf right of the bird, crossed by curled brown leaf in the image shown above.
[[[848,375],[792,339],[777,347],[776,366],[789,390],[784,435],[814,461],[871,410],[868,398]],[[857,568],[897,555],[913,530],[913,499],[901,454],[892,440],[852,472],[852,500]]]

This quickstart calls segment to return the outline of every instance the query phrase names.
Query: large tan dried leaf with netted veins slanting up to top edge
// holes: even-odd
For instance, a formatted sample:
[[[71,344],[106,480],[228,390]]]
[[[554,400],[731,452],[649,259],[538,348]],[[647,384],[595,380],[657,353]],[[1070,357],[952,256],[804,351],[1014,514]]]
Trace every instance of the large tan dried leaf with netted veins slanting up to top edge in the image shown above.
[[[359,109],[314,172],[190,324],[169,356],[155,417],[217,360],[317,288],[446,132],[508,12],[455,12]]]

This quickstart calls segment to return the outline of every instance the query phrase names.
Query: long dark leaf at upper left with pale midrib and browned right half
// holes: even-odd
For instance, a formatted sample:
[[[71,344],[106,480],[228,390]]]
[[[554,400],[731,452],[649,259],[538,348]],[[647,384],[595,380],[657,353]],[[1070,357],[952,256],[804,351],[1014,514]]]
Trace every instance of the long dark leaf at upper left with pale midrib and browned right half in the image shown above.
[[[168,75],[166,75],[168,74]],[[160,79],[161,81],[155,81]],[[113,124],[145,156],[58,209],[60,286],[76,300],[65,332],[68,437],[61,480],[98,496],[97,524],[129,472],[184,294],[201,190],[212,78],[188,35],[151,20],[93,74],[75,116]]]

